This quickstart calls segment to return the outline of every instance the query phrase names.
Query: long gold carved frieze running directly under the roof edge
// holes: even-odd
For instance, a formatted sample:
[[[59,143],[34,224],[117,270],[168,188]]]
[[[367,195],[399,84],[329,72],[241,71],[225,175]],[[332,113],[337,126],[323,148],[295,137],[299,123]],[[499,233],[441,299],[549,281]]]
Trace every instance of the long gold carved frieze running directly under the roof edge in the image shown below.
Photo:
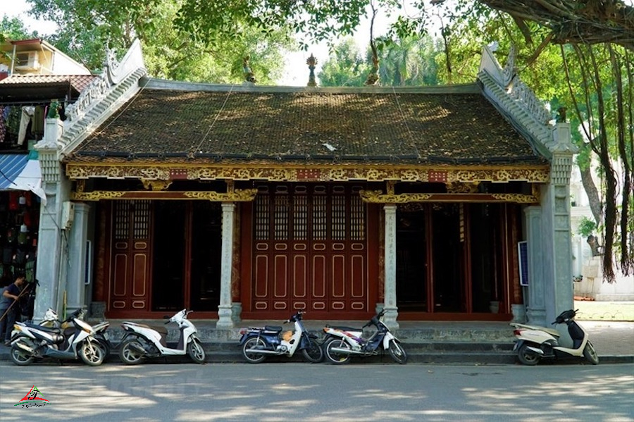
[[[348,180],[368,180],[371,182],[383,182],[385,180],[397,180],[402,182],[428,182],[430,171],[440,171],[447,174],[447,183],[476,183],[476,182],[509,182],[526,181],[547,183],[550,181],[548,166],[535,166],[531,168],[495,167],[495,168],[464,168],[459,166],[410,166],[392,167],[383,164],[383,167],[351,167],[352,164],[323,164],[315,165],[309,169],[319,170],[319,181],[344,182]],[[173,166],[171,166],[173,167]],[[245,162],[241,166],[225,164],[211,167],[205,164],[178,163],[178,168],[186,173],[187,180],[268,180],[271,182],[297,182],[305,181],[298,178],[306,171],[306,165],[302,166],[287,163],[281,165],[262,166]],[[68,163],[66,175],[72,180],[88,178],[137,178],[151,180],[170,180],[170,165],[142,164],[132,166],[125,165],[94,165]]]

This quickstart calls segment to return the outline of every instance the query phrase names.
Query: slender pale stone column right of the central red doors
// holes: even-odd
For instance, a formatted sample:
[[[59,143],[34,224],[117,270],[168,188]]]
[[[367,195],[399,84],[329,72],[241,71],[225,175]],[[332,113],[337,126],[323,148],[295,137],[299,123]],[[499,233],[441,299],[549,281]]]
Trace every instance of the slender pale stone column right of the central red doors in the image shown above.
[[[396,210],[394,204],[383,206],[385,211],[385,285],[384,300],[385,316],[383,321],[390,330],[399,328],[397,318],[399,310],[396,297]]]

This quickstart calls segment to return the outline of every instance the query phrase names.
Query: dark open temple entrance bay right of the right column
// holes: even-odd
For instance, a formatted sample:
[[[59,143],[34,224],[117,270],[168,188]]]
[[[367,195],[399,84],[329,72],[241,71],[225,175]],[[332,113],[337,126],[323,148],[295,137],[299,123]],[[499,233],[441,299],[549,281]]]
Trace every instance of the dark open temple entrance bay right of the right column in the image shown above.
[[[517,228],[509,225],[507,204],[399,206],[399,314],[452,319],[451,314],[504,312],[511,230]]]

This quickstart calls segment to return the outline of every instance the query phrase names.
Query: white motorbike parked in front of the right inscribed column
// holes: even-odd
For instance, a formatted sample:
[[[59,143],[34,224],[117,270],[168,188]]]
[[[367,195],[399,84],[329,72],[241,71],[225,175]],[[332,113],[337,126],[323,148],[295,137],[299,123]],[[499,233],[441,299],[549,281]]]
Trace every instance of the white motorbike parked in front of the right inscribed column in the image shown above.
[[[401,342],[383,323],[385,309],[373,316],[362,328],[330,327],[326,325],[323,331],[323,351],[332,364],[347,364],[352,356],[374,356],[387,350],[392,360],[398,364],[407,363],[407,354]],[[371,337],[363,338],[363,328],[374,325],[376,331]]]

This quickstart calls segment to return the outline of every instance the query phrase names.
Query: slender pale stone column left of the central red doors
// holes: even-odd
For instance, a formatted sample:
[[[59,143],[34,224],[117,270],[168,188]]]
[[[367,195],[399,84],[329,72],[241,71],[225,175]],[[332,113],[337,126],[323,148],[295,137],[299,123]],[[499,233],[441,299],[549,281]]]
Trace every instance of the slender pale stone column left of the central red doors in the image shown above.
[[[235,204],[223,203],[223,246],[220,263],[220,304],[216,328],[233,328],[231,304],[231,270],[233,257],[233,219]]]

